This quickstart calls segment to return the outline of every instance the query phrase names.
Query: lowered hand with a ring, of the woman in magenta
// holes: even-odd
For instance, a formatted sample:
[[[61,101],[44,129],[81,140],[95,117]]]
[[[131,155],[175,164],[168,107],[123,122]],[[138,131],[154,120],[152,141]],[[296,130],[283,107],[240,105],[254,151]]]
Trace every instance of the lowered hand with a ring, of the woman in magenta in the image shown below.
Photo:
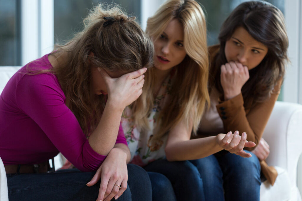
[[[86,184],[93,186],[101,179],[97,200],[110,201],[113,197],[117,199],[124,193],[128,181],[126,159],[125,152],[118,148],[111,149],[91,181]]]

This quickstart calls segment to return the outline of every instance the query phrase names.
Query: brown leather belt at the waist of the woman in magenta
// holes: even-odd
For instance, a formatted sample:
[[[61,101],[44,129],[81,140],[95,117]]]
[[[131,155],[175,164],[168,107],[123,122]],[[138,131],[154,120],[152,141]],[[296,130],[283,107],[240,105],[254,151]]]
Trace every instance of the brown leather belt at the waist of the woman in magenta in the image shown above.
[[[4,165],[6,174],[43,173],[50,168],[49,162],[34,165]]]

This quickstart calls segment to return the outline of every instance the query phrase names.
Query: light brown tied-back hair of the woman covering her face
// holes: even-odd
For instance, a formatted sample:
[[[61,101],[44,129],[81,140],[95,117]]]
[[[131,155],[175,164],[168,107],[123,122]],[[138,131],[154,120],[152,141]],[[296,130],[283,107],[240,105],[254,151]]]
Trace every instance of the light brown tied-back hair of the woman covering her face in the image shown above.
[[[56,45],[52,54],[56,58],[67,54],[55,74],[70,99],[70,110],[88,135],[100,121],[106,98],[92,92],[91,66],[124,73],[149,68],[154,47],[135,17],[127,16],[117,5],[95,6],[83,24],[82,31],[66,44]]]

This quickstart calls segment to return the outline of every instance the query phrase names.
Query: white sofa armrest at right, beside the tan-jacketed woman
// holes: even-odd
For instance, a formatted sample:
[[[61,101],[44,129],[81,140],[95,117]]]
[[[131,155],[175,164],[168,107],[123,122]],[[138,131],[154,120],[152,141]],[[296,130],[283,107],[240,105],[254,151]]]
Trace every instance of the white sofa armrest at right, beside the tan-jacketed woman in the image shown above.
[[[302,152],[302,105],[275,103],[265,127],[263,138],[270,146],[268,165],[288,171],[291,184],[297,186],[297,164]]]

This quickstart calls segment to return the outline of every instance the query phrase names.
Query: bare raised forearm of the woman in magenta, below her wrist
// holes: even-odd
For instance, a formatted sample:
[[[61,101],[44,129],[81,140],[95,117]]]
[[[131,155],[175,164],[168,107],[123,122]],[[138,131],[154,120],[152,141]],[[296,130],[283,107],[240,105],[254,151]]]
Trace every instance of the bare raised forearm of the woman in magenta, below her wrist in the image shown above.
[[[121,108],[107,101],[101,120],[88,139],[90,146],[98,154],[108,155],[114,147],[122,112]]]

